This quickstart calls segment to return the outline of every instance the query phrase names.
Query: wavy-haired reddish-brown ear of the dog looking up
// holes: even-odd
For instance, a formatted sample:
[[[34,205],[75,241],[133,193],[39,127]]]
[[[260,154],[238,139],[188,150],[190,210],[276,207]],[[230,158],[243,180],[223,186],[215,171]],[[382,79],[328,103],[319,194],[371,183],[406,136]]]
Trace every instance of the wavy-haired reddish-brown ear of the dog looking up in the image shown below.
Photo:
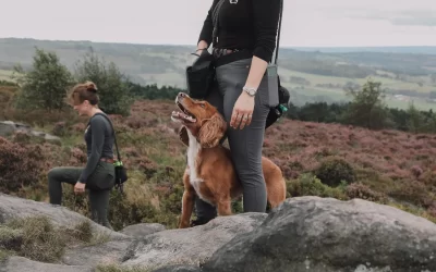
[[[225,136],[227,123],[221,114],[216,113],[211,119],[205,120],[198,132],[198,141],[203,148],[216,147]]]

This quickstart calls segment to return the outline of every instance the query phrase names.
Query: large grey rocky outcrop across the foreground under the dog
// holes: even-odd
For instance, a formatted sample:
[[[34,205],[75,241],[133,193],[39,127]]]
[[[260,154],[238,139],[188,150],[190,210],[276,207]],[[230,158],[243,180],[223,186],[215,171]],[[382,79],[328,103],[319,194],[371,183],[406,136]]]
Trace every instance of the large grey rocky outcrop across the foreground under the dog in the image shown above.
[[[0,222],[35,213],[60,225],[84,219],[62,207],[0,195]],[[220,217],[184,230],[137,224],[110,237],[68,249],[59,264],[11,257],[0,272],[94,271],[111,263],[155,272],[436,271],[436,224],[361,199],[296,197],[269,214]]]

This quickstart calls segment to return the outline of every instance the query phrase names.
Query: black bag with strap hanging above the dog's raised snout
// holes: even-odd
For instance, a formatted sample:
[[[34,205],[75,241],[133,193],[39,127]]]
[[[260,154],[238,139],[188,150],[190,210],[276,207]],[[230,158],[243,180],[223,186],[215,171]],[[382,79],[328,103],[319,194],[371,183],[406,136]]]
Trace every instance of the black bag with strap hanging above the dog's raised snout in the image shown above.
[[[220,10],[222,3],[226,0],[220,0],[214,8],[214,44],[216,38],[217,30],[217,15]],[[195,54],[195,53],[192,53]],[[197,55],[197,54],[195,54]],[[194,99],[205,99],[213,87],[215,82],[215,58],[209,51],[202,50],[202,53],[195,60],[195,62],[186,67],[185,71],[186,76],[186,88],[190,97]]]

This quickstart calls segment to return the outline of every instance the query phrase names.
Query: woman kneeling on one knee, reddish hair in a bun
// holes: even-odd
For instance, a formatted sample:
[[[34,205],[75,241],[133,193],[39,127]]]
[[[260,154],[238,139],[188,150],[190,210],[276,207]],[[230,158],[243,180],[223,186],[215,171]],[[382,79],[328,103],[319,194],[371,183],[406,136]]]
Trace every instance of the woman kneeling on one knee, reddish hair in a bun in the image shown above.
[[[74,193],[89,189],[92,219],[109,228],[108,206],[110,189],[114,185],[113,131],[107,115],[98,109],[97,87],[87,82],[73,87],[70,96],[74,110],[90,118],[84,139],[87,149],[85,168],[60,166],[48,173],[50,203],[61,205],[62,185],[74,185]]]

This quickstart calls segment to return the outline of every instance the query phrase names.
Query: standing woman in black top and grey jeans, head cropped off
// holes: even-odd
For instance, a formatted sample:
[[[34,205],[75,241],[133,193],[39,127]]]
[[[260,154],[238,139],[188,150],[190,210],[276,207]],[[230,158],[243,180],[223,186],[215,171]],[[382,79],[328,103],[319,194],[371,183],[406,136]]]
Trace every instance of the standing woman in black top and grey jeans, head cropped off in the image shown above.
[[[227,136],[243,184],[244,212],[266,210],[262,147],[270,107],[265,72],[276,49],[280,5],[281,0],[214,0],[197,42],[197,54],[214,44],[217,84],[206,100],[230,124]],[[197,199],[196,214],[193,224],[203,224],[216,209]]]

